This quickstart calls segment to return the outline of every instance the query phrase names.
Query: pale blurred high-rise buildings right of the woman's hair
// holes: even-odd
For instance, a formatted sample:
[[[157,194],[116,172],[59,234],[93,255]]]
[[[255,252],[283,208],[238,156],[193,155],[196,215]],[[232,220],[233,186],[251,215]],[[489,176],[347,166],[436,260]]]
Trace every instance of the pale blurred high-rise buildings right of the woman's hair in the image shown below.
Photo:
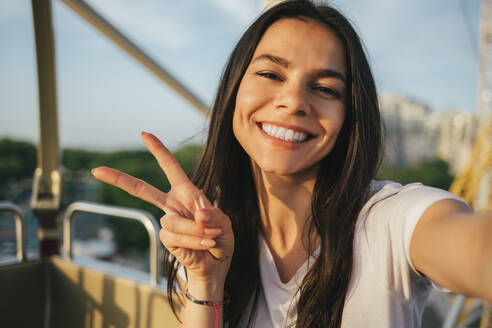
[[[385,164],[411,165],[442,158],[458,172],[470,155],[478,120],[470,113],[433,112],[414,98],[393,94],[380,99],[386,127]]]

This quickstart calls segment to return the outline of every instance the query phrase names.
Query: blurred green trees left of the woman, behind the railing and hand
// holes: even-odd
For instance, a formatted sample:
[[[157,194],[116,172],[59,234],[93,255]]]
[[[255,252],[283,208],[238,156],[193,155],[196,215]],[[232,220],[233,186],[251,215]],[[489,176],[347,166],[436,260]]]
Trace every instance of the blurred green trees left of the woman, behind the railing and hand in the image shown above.
[[[174,155],[188,176],[192,176],[203,151],[202,146],[187,145],[178,149]],[[96,152],[82,149],[64,149],[62,166],[65,173],[64,184],[87,183],[87,180],[72,181],[71,173],[85,173],[97,166],[109,166],[147,181],[162,191],[168,191],[170,185],[157,161],[146,150],[129,150],[116,152]],[[29,142],[0,139],[0,186],[6,187],[10,182],[32,178],[36,168],[36,147]],[[94,180],[92,180],[95,183]],[[96,201],[104,204],[137,208],[151,213],[157,220],[163,215],[162,210],[137,199],[124,191],[105,183],[97,183]],[[68,191],[67,188],[64,188]],[[0,190],[0,199],[2,199]],[[148,247],[146,230],[140,223],[128,220],[109,220],[113,226],[115,241],[120,249],[136,246]]]

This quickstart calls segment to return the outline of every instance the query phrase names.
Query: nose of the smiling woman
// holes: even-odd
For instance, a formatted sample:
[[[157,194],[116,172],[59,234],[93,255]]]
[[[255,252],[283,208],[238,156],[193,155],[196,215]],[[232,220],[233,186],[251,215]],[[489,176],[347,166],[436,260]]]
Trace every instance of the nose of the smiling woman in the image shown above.
[[[302,81],[284,81],[274,100],[275,108],[291,115],[307,115],[311,109],[307,90]]]

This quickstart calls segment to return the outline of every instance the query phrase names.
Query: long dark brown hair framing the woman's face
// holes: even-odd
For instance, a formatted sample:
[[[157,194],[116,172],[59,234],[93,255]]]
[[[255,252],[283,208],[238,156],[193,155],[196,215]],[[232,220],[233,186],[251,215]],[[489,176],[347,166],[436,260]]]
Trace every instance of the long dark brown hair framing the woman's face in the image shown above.
[[[297,327],[340,327],[352,272],[354,230],[367,200],[381,152],[377,92],[362,43],[350,22],[336,9],[307,0],[282,2],[265,11],[243,34],[223,72],[212,108],[209,135],[194,182],[215,201],[232,223],[235,250],[225,283],[232,302],[224,320],[236,327],[248,305],[252,326],[261,288],[258,196],[248,155],[232,131],[236,94],[256,46],[274,22],[313,20],[343,42],[347,63],[346,114],[333,150],[320,163],[311,201],[309,234],[320,237],[320,255],[300,287]],[[309,254],[313,244],[307,245]],[[169,253],[168,296],[173,309],[179,266]]]

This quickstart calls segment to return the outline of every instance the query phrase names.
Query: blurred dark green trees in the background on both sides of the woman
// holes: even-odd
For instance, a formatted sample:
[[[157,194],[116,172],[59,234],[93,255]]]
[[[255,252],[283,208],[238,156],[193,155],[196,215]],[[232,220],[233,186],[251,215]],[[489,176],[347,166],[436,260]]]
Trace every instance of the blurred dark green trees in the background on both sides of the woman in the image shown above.
[[[193,175],[202,151],[202,146],[187,145],[174,152],[188,176]],[[157,161],[146,150],[95,152],[65,149],[62,152],[62,164],[67,173],[84,172],[86,174],[94,167],[109,166],[147,181],[162,191],[170,189],[169,182]],[[33,144],[0,139],[0,186],[7,185],[9,181],[32,177],[35,167],[36,148]],[[448,189],[453,176],[449,173],[449,166],[446,162],[432,159],[407,167],[382,167],[378,173],[378,179],[393,180],[402,184],[422,182],[428,186]],[[156,219],[163,215],[157,207],[105,183],[97,183],[96,200],[104,204],[141,209],[151,213]],[[148,246],[146,231],[139,223],[126,220],[110,220],[109,222],[113,222],[115,239],[121,248],[136,245],[140,249],[145,249]]]

